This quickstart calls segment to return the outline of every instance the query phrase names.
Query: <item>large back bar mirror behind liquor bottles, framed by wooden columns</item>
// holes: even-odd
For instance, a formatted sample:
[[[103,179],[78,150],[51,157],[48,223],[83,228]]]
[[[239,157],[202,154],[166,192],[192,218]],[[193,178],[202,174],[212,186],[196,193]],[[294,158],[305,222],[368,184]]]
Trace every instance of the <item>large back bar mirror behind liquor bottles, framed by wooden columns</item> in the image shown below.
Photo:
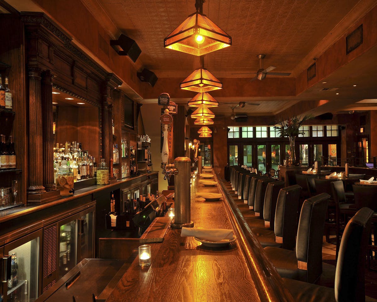
[[[99,162],[99,108],[71,95],[67,92],[52,89],[53,104],[53,133],[54,150],[66,149],[66,144],[70,152],[77,152],[81,149],[83,157],[95,157],[96,163]],[[76,149],[76,150],[75,150]],[[86,152],[87,151],[87,152]],[[66,152],[63,150],[63,153]],[[72,156],[74,154],[71,154]],[[56,156],[55,156],[55,161]]]

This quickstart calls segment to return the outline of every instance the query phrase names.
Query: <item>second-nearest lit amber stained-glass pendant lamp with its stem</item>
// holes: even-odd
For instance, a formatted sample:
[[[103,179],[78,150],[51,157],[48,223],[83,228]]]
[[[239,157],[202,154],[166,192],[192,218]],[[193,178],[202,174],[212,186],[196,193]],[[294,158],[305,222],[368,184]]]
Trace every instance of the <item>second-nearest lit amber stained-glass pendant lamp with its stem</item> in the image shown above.
[[[204,68],[204,60],[201,57],[202,68],[194,70],[186,79],[179,84],[181,89],[195,91],[195,92],[208,92],[222,88],[222,83]]]

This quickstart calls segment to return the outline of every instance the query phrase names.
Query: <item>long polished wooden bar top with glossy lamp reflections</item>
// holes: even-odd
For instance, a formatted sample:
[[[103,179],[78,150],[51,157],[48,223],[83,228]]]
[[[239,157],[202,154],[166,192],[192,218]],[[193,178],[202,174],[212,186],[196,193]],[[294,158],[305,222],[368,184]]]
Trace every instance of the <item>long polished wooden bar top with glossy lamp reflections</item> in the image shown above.
[[[195,198],[196,192],[222,193],[223,200],[199,202]],[[221,185],[204,187],[196,177],[191,187],[191,220],[194,227],[234,229],[231,221],[234,217],[231,217],[230,208],[226,205],[228,199]],[[284,293],[276,297],[276,293],[270,292],[269,284],[265,284],[264,289],[261,280],[258,280],[257,290],[254,279],[261,274],[270,276],[271,268],[266,267],[265,271],[251,274],[250,264],[243,252],[246,244],[244,236],[238,236],[236,230],[234,233],[237,240],[228,247],[209,248],[193,237],[181,237],[181,230],[169,228],[162,243],[150,243],[152,264],[142,268],[136,257],[106,301],[289,300]],[[258,248],[262,251],[260,245]],[[284,288],[278,275],[277,280],[280,282],[278,287]],[[264,292],[261,293],[261,290]]]

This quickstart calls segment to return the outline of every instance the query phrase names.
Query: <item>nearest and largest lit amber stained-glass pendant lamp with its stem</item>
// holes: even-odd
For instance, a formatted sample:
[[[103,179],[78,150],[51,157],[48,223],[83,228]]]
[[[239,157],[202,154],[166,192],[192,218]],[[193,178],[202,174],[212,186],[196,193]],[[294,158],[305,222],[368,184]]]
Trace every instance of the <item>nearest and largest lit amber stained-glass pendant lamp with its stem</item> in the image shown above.
[[[196,12],[164,39],[165,48],[200,56],[232,45],[230,35],[203,14],[203,3],[196,0]]]

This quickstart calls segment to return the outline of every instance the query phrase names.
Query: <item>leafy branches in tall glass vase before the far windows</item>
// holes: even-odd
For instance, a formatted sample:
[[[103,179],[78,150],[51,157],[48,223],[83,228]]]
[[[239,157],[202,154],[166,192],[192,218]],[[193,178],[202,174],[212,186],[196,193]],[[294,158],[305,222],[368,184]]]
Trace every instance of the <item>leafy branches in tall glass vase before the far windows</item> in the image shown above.
[[[310,119],[311,116],[304,116],[301,118],[301,116],[297,117],[290,117],[290,118],[283,118],[280,117],[275,121],[276,125],[274,128],[279,131],[279,134],[281,137],[288,137],[289,139],[289,145],[290,145],[290,157],[289,157],[289,163],[295,164],[296,163],[296,156],[294,152],[294,140],[296,139],[296,136],[299,134],[303,134],[303,131],[300,131],[300,127],[302,126],[303,122]],[[287,163],[288,164],[288,163]]]

